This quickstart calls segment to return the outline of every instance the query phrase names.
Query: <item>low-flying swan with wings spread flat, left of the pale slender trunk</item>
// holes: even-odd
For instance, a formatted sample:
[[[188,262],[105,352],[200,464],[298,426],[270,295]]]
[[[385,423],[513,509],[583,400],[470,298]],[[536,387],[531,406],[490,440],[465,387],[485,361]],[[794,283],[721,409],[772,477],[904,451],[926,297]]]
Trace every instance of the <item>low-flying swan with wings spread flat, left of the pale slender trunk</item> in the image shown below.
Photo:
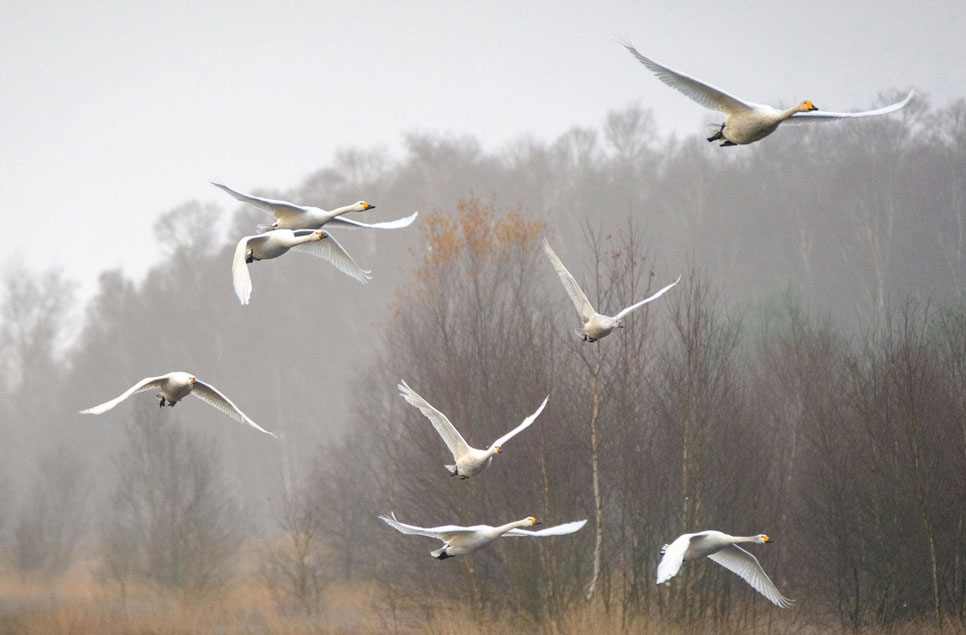
[[[460,527],[459,525],[443,525],[442,527],[429,528],[415,527],[413,525],[401,523],[396,520],[395,514],[392,514],[391,516],[380,515],[379,518],[385,521],[390,527],[401,533],[415,534],[417,536],[426,536],[428,538],[442,540],[442,547],[429,552],[434,558],[438,558],[440,560],[444,560],[452,556],[462,556],[472,553],[481,547],[485,547],[500,537],[535,536],[537,538],[542,538],[545,536],[563,536],[565,534],[572,534],[575,531],[578,531],[587,523],[587,520],[584,519],[564,523],[562,525],[556,525],[554,527],[548,527],[546,529],[530,531],[522,528],[533,527],[534,525],[541,524],[540,521],[533,516],[529,516],[512,523],[507,523],[505,525],[500,525],[499,527],[491,527],[490,525],[473,525],[470,527]]]

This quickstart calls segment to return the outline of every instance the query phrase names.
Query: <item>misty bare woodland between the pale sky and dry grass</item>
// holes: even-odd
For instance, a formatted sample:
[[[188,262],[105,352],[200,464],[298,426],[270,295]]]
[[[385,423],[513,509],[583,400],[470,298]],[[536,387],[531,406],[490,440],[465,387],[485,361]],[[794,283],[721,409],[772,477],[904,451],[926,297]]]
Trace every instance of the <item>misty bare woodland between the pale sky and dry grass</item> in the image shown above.
[[[551,141],[412,134],[294,191],[228,185],[420,216],[332,230],[368,285],[291,253],[251,265],[244,307],[232,253],[267,217],[214,188],[159,213],[143,280],[105,271],[83,306],[70,271],[6,263],[6,569],[83,562],[105,587],[185,595],[248,577],[306,614],[364,584],[402,631],[445,605],[556,632],[588,598],[682,632],[966,624],[966,101],[739,148],[662,136],[630,105]],[[544,236],[602,312],[683,278],[584,343]],[[280,439],[190,398],[78,414],[171,370]],[[401,379],[478,446],[550,398],[459,481]],[[589,522],[438,562],[390,511]],[[775,538],[750,550],[795,607],[707,560],[657,586],[660,547],[702,529]]]

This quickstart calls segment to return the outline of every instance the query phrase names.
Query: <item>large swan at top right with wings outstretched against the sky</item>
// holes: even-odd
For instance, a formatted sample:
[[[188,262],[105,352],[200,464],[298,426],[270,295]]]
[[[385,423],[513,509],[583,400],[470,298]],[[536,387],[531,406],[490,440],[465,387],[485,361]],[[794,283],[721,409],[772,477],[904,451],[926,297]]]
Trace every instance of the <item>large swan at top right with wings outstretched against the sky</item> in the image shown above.
[[[722,146],[745,145],[764,139],[775,132],[781,123],[804,123],[810,121],[832,121],[834,119],[857,119],[861,117],[875,117],[895,112],[909,103],[913,91],[909,91],[902,101],[862,112],[826,112],[820,111],[809,100],[800,102],[784,110],[755,104],[736,97],[716,86],[706,84],[700,79],[662,66],[654,60],[645,57],[629,42],[620,44],[630,51],[631,55],[647,67],[649,71],[671,88],[690,97],[705,108],[720,110],[728,116],[717,131],[708,137],[708,141],[721,141]]]

